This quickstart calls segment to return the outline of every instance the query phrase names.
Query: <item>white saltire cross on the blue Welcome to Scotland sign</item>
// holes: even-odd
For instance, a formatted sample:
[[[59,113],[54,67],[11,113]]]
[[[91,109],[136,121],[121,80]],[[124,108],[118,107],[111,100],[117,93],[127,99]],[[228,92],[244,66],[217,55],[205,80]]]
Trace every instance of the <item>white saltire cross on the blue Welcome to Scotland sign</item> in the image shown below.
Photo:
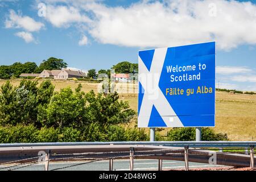
[[[144,88],[144,96],[138,115],[138,127],[148,127],[153,105],[158,110],[167,127],[183,127],[179,117],[177,117],[158,85],[166,53],[167,48],[155,49],[150,71],[144,65],[141,57],[138,56],[139,82],[141,82]]]

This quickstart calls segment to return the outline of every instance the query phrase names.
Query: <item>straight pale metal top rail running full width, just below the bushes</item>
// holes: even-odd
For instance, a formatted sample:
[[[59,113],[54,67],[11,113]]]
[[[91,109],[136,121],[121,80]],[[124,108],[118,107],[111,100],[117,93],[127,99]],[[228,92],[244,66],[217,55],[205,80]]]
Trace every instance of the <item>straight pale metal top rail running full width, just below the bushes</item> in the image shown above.
[[[102,146],[102,145],[150,145],[170,147],[254,147],[256,141],[184,141],[184,142],[52,142],[52,143],[3,143],[1,147],[39,147],[39,146]]]

